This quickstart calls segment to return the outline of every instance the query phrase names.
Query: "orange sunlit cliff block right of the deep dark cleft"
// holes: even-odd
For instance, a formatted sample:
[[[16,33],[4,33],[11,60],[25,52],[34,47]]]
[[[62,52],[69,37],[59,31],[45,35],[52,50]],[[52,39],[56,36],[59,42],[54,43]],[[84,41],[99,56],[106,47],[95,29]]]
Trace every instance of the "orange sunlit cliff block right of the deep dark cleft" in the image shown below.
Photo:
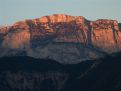
[[[92,44],[107,52],[121,49],[121,32],[115,20],[92,22]]]

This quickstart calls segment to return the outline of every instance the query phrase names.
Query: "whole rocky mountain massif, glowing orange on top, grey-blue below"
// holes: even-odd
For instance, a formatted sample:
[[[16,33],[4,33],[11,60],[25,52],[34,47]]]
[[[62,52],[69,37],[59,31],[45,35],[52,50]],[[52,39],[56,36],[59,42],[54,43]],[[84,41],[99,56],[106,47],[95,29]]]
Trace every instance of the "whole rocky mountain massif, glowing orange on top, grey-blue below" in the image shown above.
[[[1,37],[0,56],[11,54],[12,49],[36,58],[78,63],[120,51],[119,25],[116,20],[88,21],[82,16],[64,14],[20,21]],[[0,30],[0,34],[4,31]]]

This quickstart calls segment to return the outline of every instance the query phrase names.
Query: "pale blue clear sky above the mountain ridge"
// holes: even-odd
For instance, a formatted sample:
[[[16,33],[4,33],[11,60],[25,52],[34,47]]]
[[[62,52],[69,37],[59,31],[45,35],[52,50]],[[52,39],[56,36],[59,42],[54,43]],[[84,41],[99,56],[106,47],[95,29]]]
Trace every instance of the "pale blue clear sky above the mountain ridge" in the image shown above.
[[[0,25],[52,14],[121,22],[121,0],[0,0]]]

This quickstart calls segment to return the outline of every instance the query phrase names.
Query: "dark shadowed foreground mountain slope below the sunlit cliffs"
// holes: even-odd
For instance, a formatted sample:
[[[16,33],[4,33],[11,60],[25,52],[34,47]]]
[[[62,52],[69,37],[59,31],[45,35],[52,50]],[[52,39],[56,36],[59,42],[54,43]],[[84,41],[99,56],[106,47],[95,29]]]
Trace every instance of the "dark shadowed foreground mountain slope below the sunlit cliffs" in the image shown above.
[[[0,91],[121,91],[121,52],[79,64],[0,58]]]

